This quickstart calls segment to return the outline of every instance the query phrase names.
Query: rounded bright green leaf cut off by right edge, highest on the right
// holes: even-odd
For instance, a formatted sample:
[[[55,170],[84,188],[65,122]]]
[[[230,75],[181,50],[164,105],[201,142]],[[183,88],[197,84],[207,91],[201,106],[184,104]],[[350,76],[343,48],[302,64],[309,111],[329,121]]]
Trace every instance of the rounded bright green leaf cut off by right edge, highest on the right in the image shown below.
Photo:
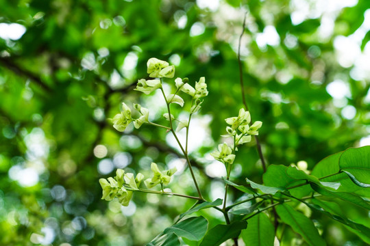
[[[370,182],[370,146],[345,150],[339,158],[339,168],[352,174],[358,182],[368,184]]]

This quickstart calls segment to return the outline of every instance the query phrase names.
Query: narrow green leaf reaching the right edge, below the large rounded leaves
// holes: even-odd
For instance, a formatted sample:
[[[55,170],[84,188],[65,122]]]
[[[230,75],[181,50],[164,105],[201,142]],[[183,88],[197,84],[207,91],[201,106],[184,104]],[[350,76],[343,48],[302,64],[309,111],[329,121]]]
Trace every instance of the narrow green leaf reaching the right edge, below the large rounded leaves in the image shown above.
[[[314,189],[314,191],[316,191],[317,193],[320,193],[321,195],[326,195],[328,197],[336,197],[343,201],[351,202],[351,204],[354,204],[354,205],[370,210],[370,204],[366,202],[365,200],[363,200],[362,197],[354,193],[329,191],[328,189],[320,187],[319,185],[315,183],[310,183],[310,185],[312,189]]]

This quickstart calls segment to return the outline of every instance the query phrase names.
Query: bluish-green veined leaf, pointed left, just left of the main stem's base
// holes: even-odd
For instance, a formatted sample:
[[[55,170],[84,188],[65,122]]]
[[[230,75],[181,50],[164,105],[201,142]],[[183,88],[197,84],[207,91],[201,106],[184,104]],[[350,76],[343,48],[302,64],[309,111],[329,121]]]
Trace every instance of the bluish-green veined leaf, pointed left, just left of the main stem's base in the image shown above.
[[[167,228],[164,234],[174,233],[191,241],[199,241],[206,234],[207,229],[208,221],[204,217],[191,217]]]

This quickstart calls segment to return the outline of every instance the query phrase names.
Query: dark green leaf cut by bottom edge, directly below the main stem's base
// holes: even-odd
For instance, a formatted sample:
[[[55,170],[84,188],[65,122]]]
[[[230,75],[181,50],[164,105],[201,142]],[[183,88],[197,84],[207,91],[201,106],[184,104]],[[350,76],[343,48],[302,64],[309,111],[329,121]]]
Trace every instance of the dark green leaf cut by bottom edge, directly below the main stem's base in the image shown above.
[[[238,238],[240,231],[247,228],[247,221],[236,221],[230,225],[217,225],[209,230],[200,246],[218,246],[230,238]]]

